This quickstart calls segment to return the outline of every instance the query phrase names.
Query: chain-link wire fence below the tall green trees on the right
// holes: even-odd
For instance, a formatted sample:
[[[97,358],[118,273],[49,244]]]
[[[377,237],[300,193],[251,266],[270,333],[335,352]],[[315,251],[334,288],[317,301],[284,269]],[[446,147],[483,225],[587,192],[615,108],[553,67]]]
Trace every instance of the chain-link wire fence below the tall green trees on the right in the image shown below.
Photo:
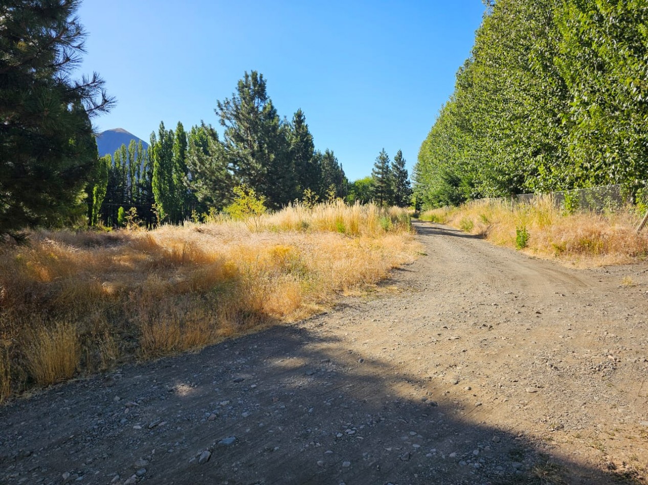
[[[526,193],[513,197],[486,199],[493,201],[510,201],[513,204],[533,204],[539,199],[550,197],[555,206],[569,212],[618,212],[635,204],[635,195],[621,184],[572,189],[549,193]]]

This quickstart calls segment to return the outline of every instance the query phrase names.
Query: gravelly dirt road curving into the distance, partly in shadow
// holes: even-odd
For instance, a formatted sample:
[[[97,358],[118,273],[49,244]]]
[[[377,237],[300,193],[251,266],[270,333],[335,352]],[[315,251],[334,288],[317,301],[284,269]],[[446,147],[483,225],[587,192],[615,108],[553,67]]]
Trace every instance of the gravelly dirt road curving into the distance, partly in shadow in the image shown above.
[[[369,296],[0,408],[0,482],[645,483],[648,264],[416,226]]]

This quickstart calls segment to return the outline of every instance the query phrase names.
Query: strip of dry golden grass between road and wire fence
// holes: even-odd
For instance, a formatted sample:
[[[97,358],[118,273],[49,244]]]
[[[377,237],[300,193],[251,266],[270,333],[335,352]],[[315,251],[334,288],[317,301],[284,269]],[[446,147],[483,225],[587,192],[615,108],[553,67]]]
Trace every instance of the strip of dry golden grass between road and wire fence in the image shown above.
[[[631,263],[648,255],[648,232],[636,233],[639,217],[632,210],[566,214],[550,197],[540,197],[533,204],[514,206],[475,201],[427,211],[421,219],[449,224],[510,248],[516,248],[516,230],[526,228],[525,252],[581,267]]]

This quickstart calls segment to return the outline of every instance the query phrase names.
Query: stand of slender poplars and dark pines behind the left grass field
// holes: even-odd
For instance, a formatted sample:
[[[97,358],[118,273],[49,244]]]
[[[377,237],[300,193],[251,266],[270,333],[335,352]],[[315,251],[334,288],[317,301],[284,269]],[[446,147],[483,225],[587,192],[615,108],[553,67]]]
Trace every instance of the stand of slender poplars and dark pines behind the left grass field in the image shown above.
[[[135,208],[146,225],[200,219],[231,206],[243,189],[271,209],[305,194],[318,200],[347,195],[349,182],[334,153],[315,149],[301,109],[291,122],[279,118],[261,74],[246,72],[217,106],[222,140],[204,122],[189,133],[181,123],[175,130],[161,123],[148,151],[132,145],[115,152],[103,224],[117,224],[120,207]]]

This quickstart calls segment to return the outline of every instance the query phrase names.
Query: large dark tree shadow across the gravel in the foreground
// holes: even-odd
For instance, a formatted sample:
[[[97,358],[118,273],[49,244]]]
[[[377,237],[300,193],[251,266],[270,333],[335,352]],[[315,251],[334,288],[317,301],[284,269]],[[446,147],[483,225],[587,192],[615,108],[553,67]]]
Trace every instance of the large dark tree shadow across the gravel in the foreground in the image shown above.
[[[122,483],[140,457],[157,484],[613,480],[478,422],[430,380],[345,349],[326,325],[321,316],[272,327],[14,402],[0,409],[0,480],[60,483],[72,469],[92,483],[119,473]],[[200,463],[203,451],[211,455]]]

